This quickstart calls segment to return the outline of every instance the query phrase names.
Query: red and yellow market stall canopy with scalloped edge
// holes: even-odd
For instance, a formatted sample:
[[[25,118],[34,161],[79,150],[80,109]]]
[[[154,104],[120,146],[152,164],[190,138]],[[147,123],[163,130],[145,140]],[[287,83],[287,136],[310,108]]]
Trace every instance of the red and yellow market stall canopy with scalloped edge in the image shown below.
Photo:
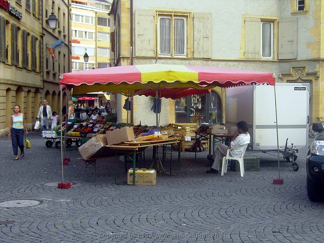
[[[229,68],[147,64],[64,73],[60,84],[73,87],[74,94],[97,91],[136,94],[145,89],[201,90],[244,84],[275,85],[275,78],[272,73]]]

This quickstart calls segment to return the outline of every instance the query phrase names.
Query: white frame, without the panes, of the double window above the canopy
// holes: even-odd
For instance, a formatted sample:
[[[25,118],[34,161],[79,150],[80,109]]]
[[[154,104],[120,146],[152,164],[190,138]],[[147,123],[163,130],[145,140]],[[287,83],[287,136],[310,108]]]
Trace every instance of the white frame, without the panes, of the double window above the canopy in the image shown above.
[[[160,52],[160,19],[161,18],[169,18],[170,19],[170,55],[168,54],[161,54]],[[159,22],[158,22],[158,48],[159,48],[159,56],[168,56],[168,57],[186,57],[187,56],[187,17],[181,17],[177,15],[167,15],[161,14],[159,15]],[[182,55],[175,55],[174,54],[174,19],[183,19],[184,20],[184,54]]]

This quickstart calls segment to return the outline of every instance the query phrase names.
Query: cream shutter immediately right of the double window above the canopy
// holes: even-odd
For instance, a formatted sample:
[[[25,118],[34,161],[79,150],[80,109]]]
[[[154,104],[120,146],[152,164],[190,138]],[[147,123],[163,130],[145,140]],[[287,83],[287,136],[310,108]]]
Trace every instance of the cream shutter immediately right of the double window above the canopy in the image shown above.
[[[193,18],[193,57],[211,58],[212,14],[195,12]]]

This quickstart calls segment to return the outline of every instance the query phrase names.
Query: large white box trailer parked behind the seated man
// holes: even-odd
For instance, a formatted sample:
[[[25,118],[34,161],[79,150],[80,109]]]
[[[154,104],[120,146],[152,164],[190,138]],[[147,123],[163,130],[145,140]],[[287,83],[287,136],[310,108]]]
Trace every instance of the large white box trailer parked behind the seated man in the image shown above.
[[[308,83],[276,83],[275,89],[279,149],[284,154],[284,158],[290,160],[290,156],[286,153],[287,138],[288,144],[294,144],[294,150],[308,147],[310,85]],[[229,133],[234,133],[237,129],[236,123],[242,120],[249,124],[251,143],[248,149],[277,150],[273,86],[246,85],[226,89],[225,124]]]

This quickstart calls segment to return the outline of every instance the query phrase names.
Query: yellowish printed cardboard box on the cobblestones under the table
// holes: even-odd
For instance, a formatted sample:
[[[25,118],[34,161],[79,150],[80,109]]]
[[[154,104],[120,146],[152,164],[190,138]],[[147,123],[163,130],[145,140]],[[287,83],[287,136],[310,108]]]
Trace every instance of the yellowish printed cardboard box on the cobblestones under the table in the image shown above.
[[[135,168],[135,185],[151,185],[157,183],[157,171],[154,169]],[[133,185],[133,168],[128,170],[127,184]]]

